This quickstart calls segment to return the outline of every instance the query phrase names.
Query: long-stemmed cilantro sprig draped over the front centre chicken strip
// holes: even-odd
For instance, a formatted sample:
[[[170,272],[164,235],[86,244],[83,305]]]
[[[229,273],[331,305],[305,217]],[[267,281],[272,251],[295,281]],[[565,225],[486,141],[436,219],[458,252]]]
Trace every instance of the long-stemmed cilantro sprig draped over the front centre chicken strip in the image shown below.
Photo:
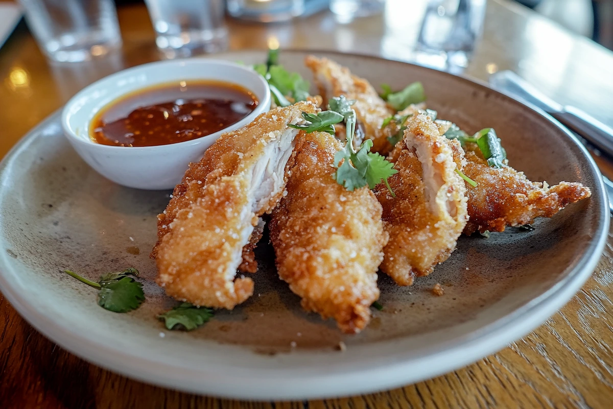
[[[345,96],[333,97],[328,109],[340,113],[345,119],[346,138],[345,147],[334,155],[336,172],[332,175],[340,185],[349,191],[367,186],[372,189],[383,181],[393,197],[392,188],[387,183],[387,178],[398,172],[392,169],[394,164],[386,161],[378,153],[370,152],[373,141],[365,140],[356,151],[353,147],[353,137],[356,132],[356,112],[351,108],[354,101],[349,101]],[[340,162],[343,163],[339,166]]]

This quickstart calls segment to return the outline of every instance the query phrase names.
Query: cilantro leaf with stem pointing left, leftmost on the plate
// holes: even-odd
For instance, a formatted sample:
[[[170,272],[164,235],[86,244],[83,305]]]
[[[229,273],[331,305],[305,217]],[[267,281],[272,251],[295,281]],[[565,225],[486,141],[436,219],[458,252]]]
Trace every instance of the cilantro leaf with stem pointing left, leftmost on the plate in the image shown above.
[[[98,289],[98,305],[109,311],[124,313],[135,310],[145,300],[143,285],[131,276],[138,276],[139,270],[130,267],[121,272],[107,273],[97,283],[81,277],[71,270],[64,270],[77,280]]]

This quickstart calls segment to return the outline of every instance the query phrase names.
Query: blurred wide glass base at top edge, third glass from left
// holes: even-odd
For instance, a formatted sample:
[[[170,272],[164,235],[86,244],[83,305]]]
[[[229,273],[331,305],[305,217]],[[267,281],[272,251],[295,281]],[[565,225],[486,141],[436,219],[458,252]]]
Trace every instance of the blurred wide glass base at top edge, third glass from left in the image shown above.
[[[305,0],[227,0],[227,10],[235,18],[272,23],[303,15]]]

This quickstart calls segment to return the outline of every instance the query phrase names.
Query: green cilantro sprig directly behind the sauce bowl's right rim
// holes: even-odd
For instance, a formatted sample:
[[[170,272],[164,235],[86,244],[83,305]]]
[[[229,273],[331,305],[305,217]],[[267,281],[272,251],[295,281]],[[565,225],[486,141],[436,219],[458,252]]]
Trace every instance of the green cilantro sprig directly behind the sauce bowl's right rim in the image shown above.
[[[292,97],[294,102],[306,101],[309,96],[310,84],[297,72],[289,72],[278,65],[278,48],[269,49],[266,64],[255,64],[254,71],[262,75],[270,87],[275,104],[279,107],[292,105],[287,97]]]

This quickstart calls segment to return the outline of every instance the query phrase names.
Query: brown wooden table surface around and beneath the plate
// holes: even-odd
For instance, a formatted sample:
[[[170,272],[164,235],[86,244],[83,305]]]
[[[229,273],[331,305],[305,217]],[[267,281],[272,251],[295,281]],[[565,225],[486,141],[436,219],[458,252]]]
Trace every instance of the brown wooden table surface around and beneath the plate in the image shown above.
[[[265,48],[274,38],[281,47],[411,58],[424,5],[389,0],[383,16],[349,25],[329,13],[291,25],[229,21],[230,48]],[[28,31],[18,28],[0,50],[0,156],[87,83],[159,58],[145,7],[123,7],[119,17],[123,56],[97,64],[47,64]],[[501,0],[488,4],[466,75],[486,80],[498,69],[513,69],[559,102],[613,125],[613,53]],[[610,162],[598,162],[613,175]],[[499,353],[405,388],[311,402],[219,400],[129,380],[42,337],[0,294],[0,407],[613,407],[612,245],[613,237],[593,277],[566,307]]]

